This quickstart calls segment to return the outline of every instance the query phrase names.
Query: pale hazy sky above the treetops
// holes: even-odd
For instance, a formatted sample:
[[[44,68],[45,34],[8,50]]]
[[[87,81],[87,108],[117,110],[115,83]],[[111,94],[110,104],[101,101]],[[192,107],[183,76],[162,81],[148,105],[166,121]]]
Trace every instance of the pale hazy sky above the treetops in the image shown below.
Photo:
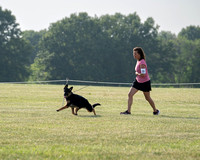
[[[190,25],[200,26],[200,0],[0,0],[0,6],[12,12],[22,31],[48,29],[80,12],[92,17],[136,12],[142,22],[152,17],[159,31],[175,34]]]

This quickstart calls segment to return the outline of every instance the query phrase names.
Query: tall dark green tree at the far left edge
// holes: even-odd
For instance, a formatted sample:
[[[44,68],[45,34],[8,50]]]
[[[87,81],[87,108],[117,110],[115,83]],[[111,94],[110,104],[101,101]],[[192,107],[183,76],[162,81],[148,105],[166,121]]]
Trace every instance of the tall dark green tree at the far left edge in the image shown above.
[[[0,81],[25,80],[29,74],[31,47],[9,10],[0,7]]]

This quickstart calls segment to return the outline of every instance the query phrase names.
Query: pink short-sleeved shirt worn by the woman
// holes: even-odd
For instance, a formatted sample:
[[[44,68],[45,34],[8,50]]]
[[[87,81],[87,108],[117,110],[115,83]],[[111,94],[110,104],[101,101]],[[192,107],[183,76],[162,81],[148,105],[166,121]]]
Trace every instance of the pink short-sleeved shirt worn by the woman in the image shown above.
[[[142,65],[142,64],[145,65],[146,74],[144,76],[137,75],[136,80],[139,83],[144,83],[144,82],[147,82],[147,81],[150,80],[148,70],[147,70],[147,64],[146,64],[146,61],[144,59],[137,61],[136,65],[135,65],[135,71],[138,72],[138,73],[141,73],[140,65]]]

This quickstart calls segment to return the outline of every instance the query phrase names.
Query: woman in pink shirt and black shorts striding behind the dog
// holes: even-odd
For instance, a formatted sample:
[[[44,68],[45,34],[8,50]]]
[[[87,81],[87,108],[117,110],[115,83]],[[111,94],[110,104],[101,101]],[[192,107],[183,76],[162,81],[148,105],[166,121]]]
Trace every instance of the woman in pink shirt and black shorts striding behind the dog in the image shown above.
[[[151,81],[148,75],[147,64],[145,61],[145,54],[142,48],[136,47],[133,49],[133,57],[137,60],[135,66],[136,79],[128,93],[128,110],[121,112],[120,114],[131,114],[131,105],[133,103],[133,96],[138,90],[143,91],[145,99],[149,102],[153,108],[153,114],[158,115],[160,111],[156,109],[154,101],[150,97]]]

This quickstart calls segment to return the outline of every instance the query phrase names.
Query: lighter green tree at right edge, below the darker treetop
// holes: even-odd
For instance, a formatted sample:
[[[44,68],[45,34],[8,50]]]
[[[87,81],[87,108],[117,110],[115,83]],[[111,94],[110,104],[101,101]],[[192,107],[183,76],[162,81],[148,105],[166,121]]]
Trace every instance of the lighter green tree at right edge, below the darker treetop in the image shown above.
[[[176,82],[199,83],[200,40],[192,41],[179,37],[175,45],[177,52]]]

